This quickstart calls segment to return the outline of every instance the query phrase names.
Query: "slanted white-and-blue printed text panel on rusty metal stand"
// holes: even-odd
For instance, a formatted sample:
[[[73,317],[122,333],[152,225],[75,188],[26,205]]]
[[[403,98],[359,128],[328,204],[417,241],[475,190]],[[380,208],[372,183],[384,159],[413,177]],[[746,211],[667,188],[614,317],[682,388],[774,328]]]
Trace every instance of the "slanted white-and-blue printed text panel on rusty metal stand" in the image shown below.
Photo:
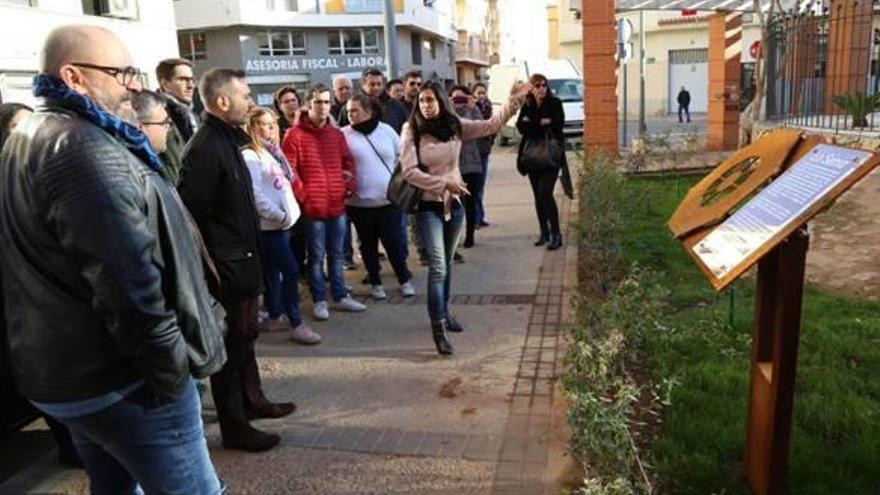
[[[873,157],[868,151],[815,146],[697,242],[692,255],[722,288],[867,173]]]

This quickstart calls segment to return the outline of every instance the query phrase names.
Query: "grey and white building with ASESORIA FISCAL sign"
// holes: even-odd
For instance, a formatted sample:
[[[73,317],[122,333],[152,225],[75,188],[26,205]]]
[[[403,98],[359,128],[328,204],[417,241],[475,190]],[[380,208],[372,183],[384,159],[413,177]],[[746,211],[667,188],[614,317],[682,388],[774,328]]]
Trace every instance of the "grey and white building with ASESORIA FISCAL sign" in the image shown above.
[[[196,75],[242,68],[254,100],[268,105],[279,86],[330,84],[385,70],[383,0],[177,0],[178,43]],[[449,0],[395,0],[399,70],[455,79],[455,30]],[[399,76],[400,74],[396,74]]]

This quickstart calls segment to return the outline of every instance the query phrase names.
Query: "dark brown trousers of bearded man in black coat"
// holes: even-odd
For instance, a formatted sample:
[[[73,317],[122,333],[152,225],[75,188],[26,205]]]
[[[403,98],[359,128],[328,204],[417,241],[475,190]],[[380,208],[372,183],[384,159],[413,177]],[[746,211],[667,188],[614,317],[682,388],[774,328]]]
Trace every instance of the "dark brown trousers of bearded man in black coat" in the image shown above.
[[[226,364],[211,376],[211,393],[223,435],[248,424],[246,409],[268,402],[263,395],[254,344],[257,340],[258,297],[225,297]]]

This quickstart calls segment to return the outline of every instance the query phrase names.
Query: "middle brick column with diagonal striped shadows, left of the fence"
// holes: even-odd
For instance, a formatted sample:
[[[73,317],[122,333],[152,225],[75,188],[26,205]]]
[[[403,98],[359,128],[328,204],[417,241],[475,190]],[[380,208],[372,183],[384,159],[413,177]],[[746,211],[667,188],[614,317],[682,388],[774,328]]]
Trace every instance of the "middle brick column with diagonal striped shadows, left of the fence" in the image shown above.
[[[742,16],[718,12],[709,18],[709,111],[706,149],[739,146],[740,55]]]

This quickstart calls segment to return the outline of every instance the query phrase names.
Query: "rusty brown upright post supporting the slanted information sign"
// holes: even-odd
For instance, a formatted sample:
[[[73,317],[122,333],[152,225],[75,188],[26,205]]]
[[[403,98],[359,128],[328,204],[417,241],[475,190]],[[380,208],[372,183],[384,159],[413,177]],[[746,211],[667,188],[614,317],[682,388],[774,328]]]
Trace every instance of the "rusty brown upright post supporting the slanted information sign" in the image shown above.
[[[808,247],[801,227],[758,264],[743,463],[756,495],[784,493]]]

